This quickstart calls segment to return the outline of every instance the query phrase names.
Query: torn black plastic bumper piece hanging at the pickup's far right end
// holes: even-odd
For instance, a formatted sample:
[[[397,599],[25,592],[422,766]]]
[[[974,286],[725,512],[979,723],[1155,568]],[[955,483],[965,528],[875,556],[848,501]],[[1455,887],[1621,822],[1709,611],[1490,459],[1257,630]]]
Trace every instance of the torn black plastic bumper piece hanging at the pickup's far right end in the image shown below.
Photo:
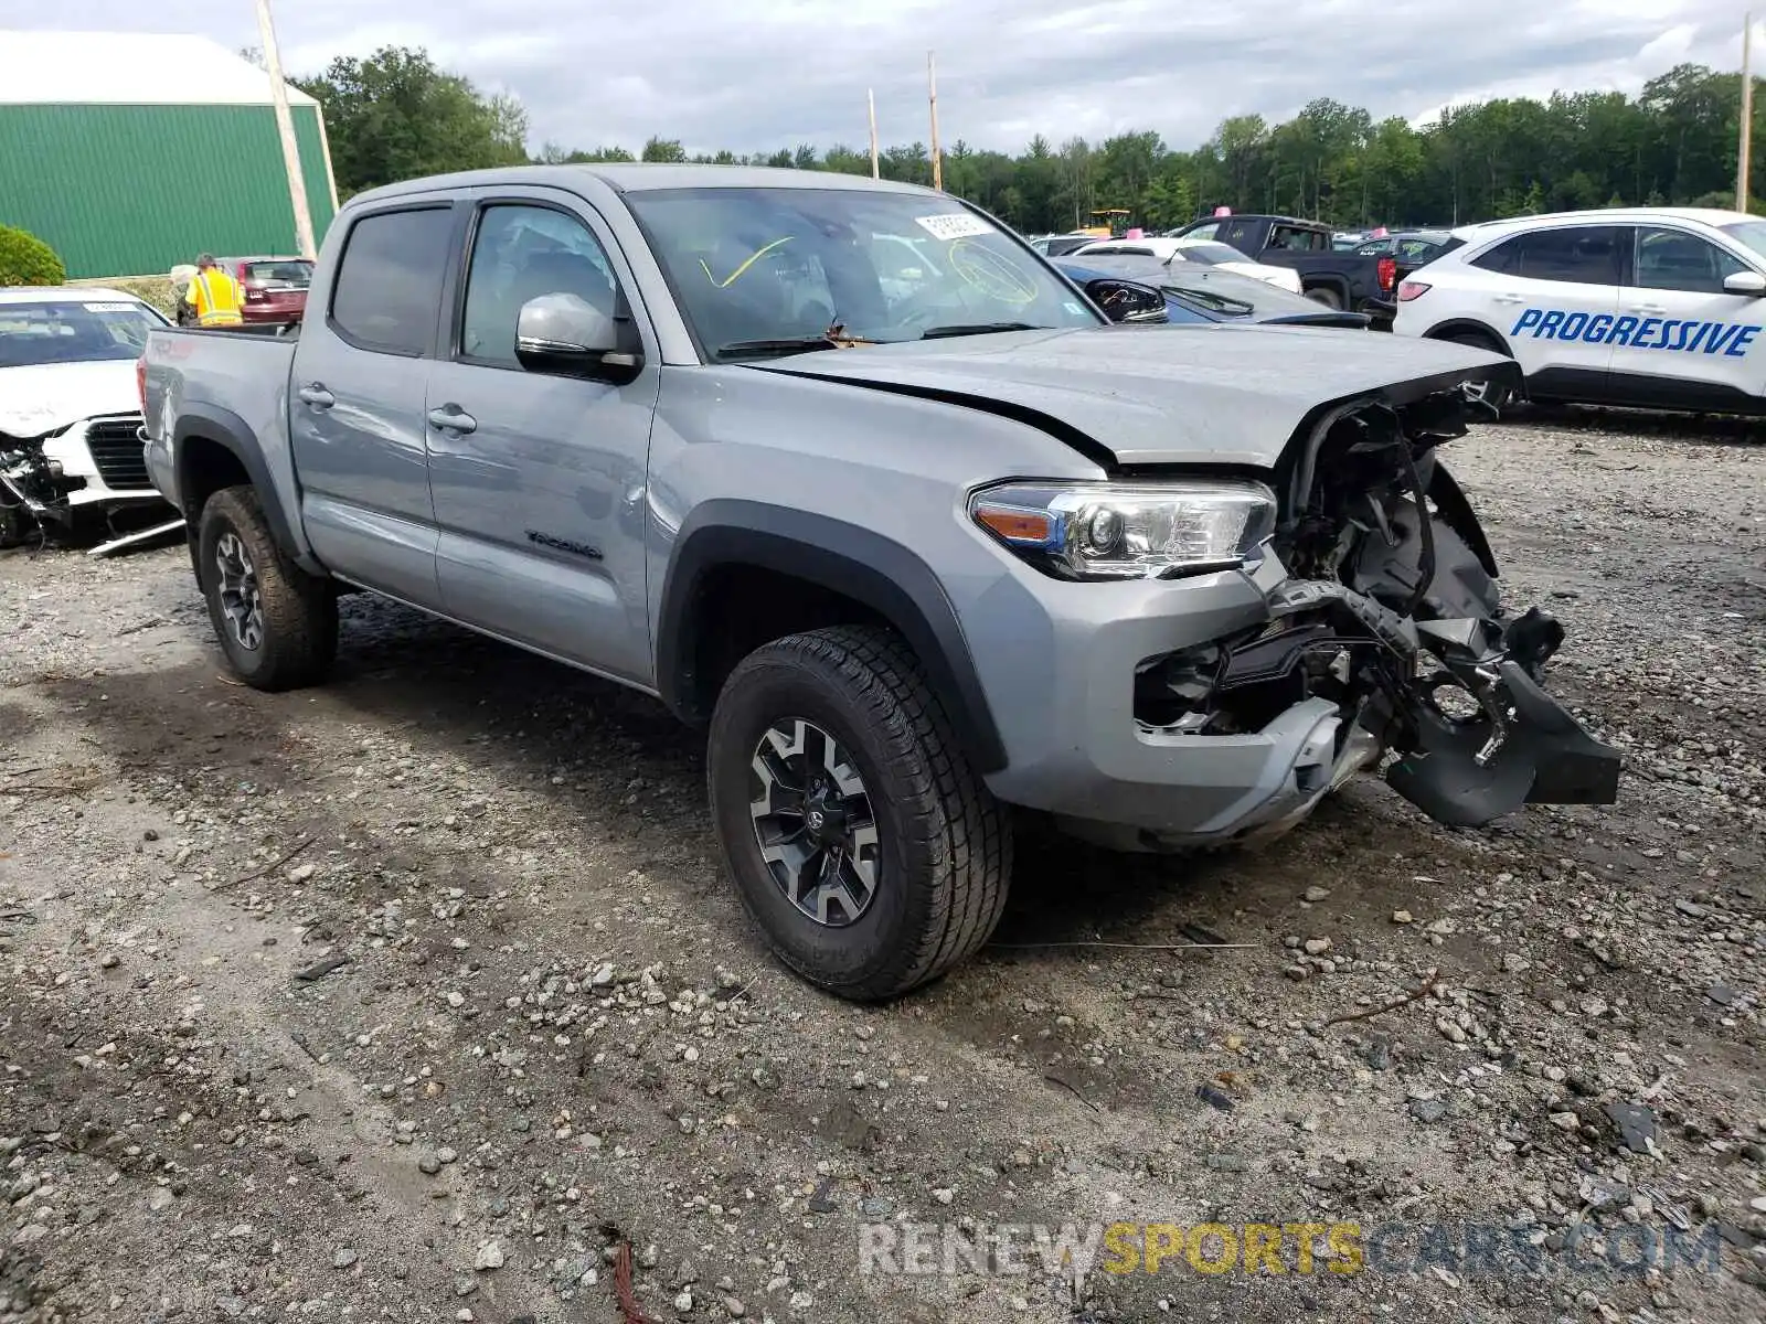
[[[1498,673],[1510,713],[1501,745],[1480,763],[1494,727],[1425,706],[1416,749],[1386,771],[1392,789],[1453,828],[1476,828],[1522,805],[1614,803],[1619,752],[1588,734],[1519,662],[1505,660]]]

